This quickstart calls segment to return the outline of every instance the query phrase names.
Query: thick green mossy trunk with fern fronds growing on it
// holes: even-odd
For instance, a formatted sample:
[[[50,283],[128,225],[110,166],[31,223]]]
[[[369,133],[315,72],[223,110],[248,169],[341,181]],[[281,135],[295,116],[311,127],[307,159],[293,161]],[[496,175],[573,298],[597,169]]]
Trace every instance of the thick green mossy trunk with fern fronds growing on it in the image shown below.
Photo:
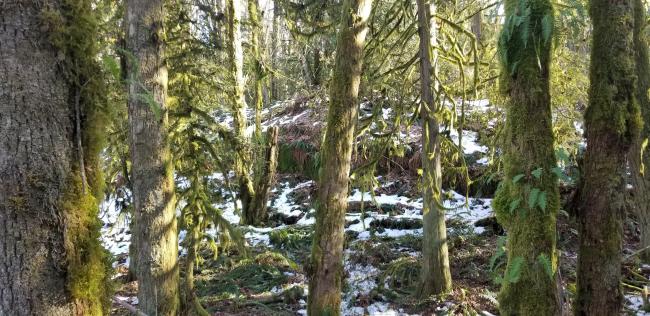
[[[508,234],[502,315],[560,315],[556,216],[559,190],[549,93],[553,9],[549,0],[507,0],[499,38],[507,95],[504,179],[495,199]]]

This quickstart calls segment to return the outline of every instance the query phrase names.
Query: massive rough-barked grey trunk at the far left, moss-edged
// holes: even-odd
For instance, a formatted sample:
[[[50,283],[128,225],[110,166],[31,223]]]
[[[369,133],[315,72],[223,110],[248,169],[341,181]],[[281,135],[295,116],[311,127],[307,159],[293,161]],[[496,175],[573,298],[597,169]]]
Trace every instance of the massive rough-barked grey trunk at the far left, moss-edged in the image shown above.
[[[72,9],[90,14],[89,3],[64,8],[57,0],[8,0],[0,9],[0,315],[100,315],[107,307],[95,188],[82,192],[78,156],[85,149],[87,170],[97,167],[96,152],[78,147],[90,137],[77,137],[92,113],[67,68],[94,56],[50,42],[79,27]]]

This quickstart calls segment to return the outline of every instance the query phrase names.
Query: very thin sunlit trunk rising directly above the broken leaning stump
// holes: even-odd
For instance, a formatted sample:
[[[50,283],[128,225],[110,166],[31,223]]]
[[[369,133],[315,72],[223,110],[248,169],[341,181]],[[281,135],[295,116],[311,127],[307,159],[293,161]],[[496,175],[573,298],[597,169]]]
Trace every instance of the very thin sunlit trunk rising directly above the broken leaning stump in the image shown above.
[[[265,77],[264,66],[262,65],[262,51],[260,49],[260,34],[262,24],[260,23],[259,5],[257,0],[248,0],[248,16],[251,24],[251,54],[253,55],[255,90],[253,100],[255,102],[255,138],[259,142],[262,139],[262,95],[263,80]]]

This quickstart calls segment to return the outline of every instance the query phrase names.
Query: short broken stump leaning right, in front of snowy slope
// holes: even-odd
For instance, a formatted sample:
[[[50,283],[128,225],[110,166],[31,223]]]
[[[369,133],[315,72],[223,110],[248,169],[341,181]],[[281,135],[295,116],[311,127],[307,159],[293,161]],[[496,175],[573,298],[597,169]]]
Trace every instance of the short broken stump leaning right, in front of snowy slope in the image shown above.
[[[264,156],[264,167],[260,170],[260,177],[255,188],[252,211],[247,214],[251,218],[247,222],[252,225],[259,225],[266,220],[266,202],[269,200],[271,188],[275,182],[275,172],[278,168],[278,132],[277,126],[270,127],[266,135],[266,155]]]

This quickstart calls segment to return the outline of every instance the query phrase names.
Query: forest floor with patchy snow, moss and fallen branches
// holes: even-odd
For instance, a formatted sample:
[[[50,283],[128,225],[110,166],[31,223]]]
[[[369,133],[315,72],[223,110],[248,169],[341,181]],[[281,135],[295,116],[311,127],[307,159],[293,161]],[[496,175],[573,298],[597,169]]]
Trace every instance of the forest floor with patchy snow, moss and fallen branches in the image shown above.
[[[276,123],[292,125],[301,117],[309,115],[292,111],[290,116],[280,116]],[[309,121],[304,125],[316,126]],[[486,147],[475,132],[467,132],[465,154],[478,154],[473,164],[484,165]],[[474,192],[475,196],[466,198],[451,189],[445,191],[453,292],[420,300],[412,295],[420,275],[422,243],[422,198],[417,175],[391,172],[377,177],[376,183],[372,194],[353,188],[348,198],[343,314],[498,315],[499,285],[493,280],[505,262],[505,256],[498,251],[505,237],[493,217],[489,194],[481,197]],[[211,314],[306,315],[306,271],[314,230],[315,194],[315,182],[304,175],[280,174],[269,201],[266,227],[240,226],[249,254],[244,256],[233,247],[215,258],[208,249],[203,251],[204,260],[195,275],[196,287],[202,305]],[[102,219],[104,244],[116,258],[116,297],[137,306],[136,282],[124,281],[129,263],[128,223],[113,204],[114,200],[104,202]],[[239,225],[232,201],[215,206],[228,221]],[[649,284],[650,266],[640,265],[635,259],[636,231],[634,220],[628,220],[625,313],[650,315],[641,311],[638,288]],[[566,212],[558,216],[558,234],[568,310],[575,293],[578,239],[576,222]],[[112,315],[128,312],[115,306]]]

